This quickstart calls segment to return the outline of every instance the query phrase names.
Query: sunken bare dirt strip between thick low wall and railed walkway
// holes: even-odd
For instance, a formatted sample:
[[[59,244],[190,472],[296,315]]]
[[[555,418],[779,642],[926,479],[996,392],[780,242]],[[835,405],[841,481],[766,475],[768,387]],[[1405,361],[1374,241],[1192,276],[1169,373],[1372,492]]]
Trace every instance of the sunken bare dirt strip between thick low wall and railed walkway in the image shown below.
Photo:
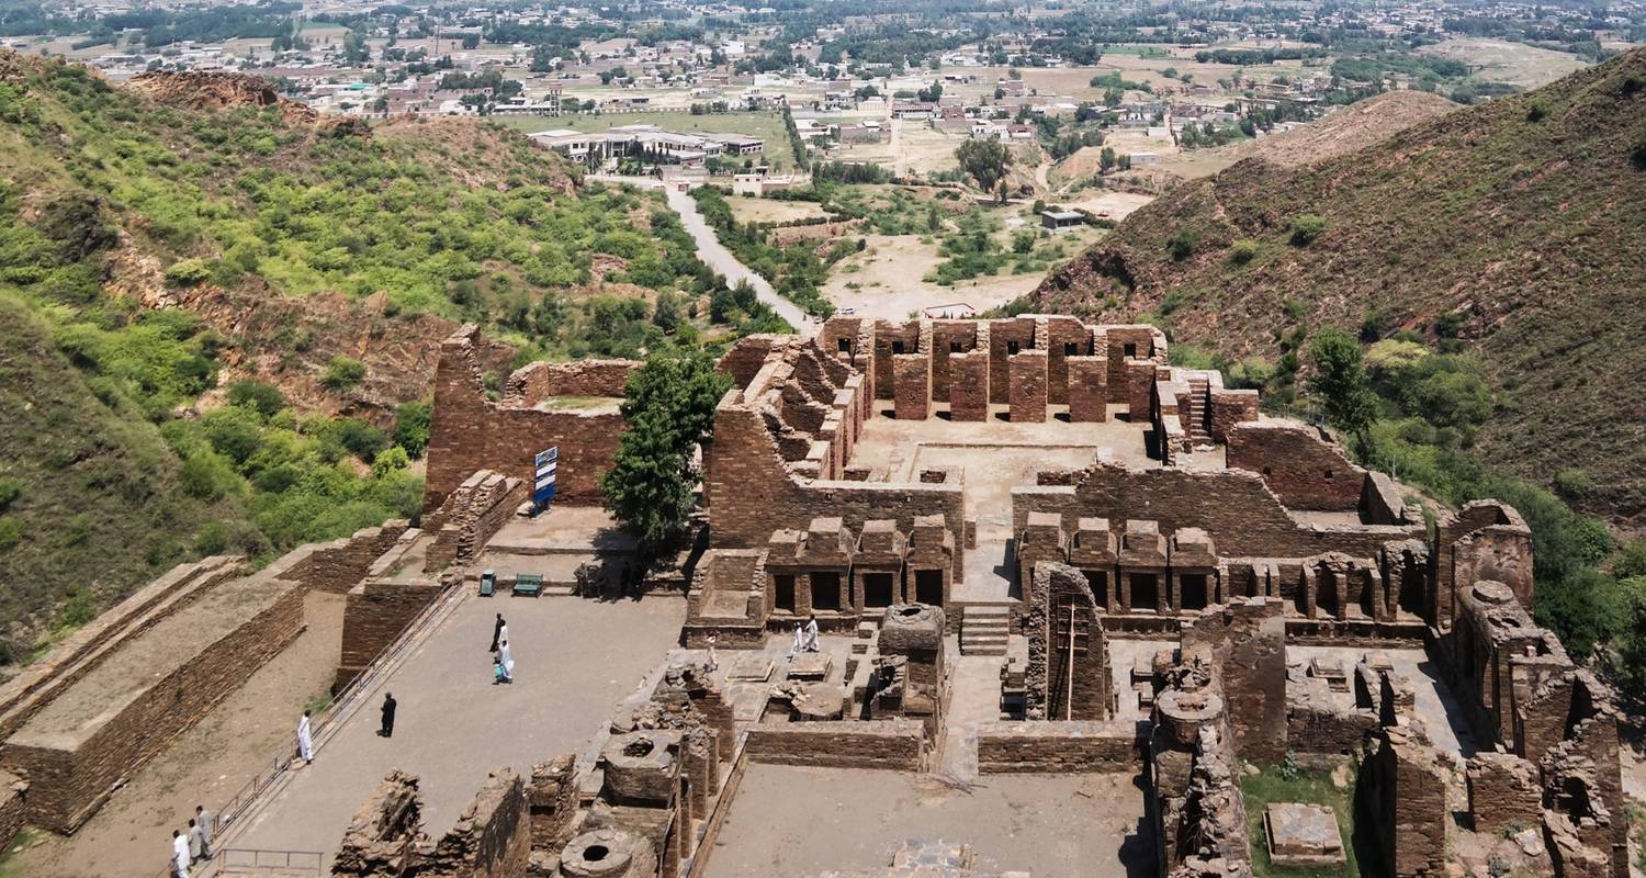
[[[337,670],[342,595],[311,593],[308,629],[161,756],[138,769],[69,838],[40,834],[16,858],[38,878],[125,878],[158,873],[171,829],[216,809],[291,736],[291,717],[323,697]]]

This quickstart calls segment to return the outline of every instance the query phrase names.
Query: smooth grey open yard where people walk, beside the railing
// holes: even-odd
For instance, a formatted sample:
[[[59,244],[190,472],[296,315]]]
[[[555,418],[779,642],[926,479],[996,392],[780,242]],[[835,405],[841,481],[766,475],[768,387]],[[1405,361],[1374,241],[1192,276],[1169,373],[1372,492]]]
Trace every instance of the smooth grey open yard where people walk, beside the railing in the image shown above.
[[[491,684],[494,613],[504,613],[517,662],[514,685]],[[364,695],[364,707],[323,741],[247,827],[235,848],[318,850],[328,858],[349,817],[384,774],[421,778],[430,835],[451,829],[486,774],[579,751],[663,661],[680,636],[685,601],[599,603],[578,598],[464,596],[403,666]],[[606,646],[624,642],[624,649]],[[377,736],[377,703],[400,702],[395,736]]]

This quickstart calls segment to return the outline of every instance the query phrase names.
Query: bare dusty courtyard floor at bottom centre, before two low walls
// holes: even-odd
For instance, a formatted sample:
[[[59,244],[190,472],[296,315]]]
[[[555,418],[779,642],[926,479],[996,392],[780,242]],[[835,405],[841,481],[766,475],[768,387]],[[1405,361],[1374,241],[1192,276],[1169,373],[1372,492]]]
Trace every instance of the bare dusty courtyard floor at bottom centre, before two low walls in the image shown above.
[[[874,870],[905,840],[966,842],[979,871],[1152,875],[1132,774],[983,778],[971,792],[890,771],[751,766],[708,878]]]

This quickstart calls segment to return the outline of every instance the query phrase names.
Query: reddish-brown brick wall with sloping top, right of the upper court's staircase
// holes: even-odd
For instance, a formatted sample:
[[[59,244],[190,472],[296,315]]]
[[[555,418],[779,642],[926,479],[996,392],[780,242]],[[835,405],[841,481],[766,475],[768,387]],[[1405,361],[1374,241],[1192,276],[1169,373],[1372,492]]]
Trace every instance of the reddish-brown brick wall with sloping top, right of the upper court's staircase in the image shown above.
[[[1228,465],[1258,473],[1290,509],[1355,512],[1366,471],[1312,427],[1284,420],[1238,423],[1228,430]]]

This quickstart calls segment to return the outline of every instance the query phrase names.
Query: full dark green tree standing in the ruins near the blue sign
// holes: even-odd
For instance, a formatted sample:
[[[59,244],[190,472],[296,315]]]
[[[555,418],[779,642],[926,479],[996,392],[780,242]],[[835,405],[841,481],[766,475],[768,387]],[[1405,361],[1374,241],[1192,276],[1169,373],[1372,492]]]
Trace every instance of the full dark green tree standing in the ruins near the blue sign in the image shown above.
[[[653,555],[681,534],[698,481],[691,453],[709,440],[714,407],[731,377],[701,351],[660,351],[629,374],[629,422],[612,468],[601,474],[606,509]]]

